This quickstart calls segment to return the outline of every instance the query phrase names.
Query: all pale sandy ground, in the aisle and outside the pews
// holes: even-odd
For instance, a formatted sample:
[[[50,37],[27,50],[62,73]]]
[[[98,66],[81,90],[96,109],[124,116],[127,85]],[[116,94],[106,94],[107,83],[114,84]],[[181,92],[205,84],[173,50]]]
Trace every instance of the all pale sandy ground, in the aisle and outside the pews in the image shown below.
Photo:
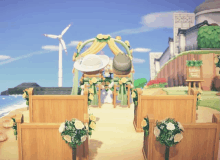
[[[12,111],[0,119],[0,130],[8,136],[7,141],[0,142],[0,160],[18,160],[18,145],[13,129],[5,129],[2,126],[3,119],[17,113],[24,114],[24,121],[29,121],[27,107]],[[90,106],[89,113],[93,113],[97,117],[96,129],[89,139],[90,160],[144,160],[142,154],[143,133],[136,133],[133,126],[133,103],[130,108],[120,105],[113,108],[112,104],[103,104],[101,108]],[[219,112],[199,106],[197,113],[196,122],[205,123],[212,122],[213,113]]]

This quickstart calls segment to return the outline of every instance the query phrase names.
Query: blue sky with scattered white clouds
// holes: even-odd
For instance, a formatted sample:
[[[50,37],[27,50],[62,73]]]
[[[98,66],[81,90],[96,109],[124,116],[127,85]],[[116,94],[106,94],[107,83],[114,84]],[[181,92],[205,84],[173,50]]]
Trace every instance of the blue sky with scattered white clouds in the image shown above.
[[[149,52],[164,52],[173,37],[173,12],[193,13],[204,0],[0,1],[0,92],[23,82],[58,87],[58,39],[63,35],[63,87],[73,86],[73,53],[98,34],[130,42],[134,79],[150,80]],[[119,46],[119,45],[118,45]],[[121,46],[120,49],[125,51]],[[114,57],[108,46],[105,55]],[[82,53],[82,52],[81,52]],[[81,74],[80,74],[81,75]],[[79,77],[80,78],[80,77]]]

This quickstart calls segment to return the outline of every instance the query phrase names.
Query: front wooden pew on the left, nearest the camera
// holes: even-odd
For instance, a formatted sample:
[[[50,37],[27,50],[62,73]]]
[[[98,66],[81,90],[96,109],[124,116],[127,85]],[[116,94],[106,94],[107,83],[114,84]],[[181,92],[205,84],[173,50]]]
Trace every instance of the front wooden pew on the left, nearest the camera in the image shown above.
[[[72,148],[59,133],[60,123],[23,123],[16,115],[19,160],[73,159]],[[88,139],[77,146],[77,160],[88,160]]]

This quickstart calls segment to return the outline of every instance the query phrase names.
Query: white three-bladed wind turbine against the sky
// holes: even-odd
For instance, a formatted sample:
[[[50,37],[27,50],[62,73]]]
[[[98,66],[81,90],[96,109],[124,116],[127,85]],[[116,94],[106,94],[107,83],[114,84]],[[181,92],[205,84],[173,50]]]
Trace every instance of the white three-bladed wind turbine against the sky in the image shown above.
[[[66,45],[64,40],[62,39],[64,33],[70,28],[71,24],[69,24],[59,36],[57,35],[51,35],[51,34],[44,34],[44,36],[53,38],[53,39],[59,39],[59,69],[58,69],[58,87],[62,87],[63,85],[63,69],[62,69],[62,47],[64,51],[67,54]]]

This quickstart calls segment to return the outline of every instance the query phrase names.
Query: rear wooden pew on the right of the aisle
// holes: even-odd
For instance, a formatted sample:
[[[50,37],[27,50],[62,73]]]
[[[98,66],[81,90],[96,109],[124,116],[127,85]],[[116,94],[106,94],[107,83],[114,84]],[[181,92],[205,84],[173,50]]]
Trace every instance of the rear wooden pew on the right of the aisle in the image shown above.
[[[147,114],[153,114],[155,119],[162,120],[167,117],[175,118],[181,123],[196,122],[197,94],[194,95],[142,95],[137,89],[138,105],[134,111],[134,127],[136,132],[143,132],[142,120]]]

